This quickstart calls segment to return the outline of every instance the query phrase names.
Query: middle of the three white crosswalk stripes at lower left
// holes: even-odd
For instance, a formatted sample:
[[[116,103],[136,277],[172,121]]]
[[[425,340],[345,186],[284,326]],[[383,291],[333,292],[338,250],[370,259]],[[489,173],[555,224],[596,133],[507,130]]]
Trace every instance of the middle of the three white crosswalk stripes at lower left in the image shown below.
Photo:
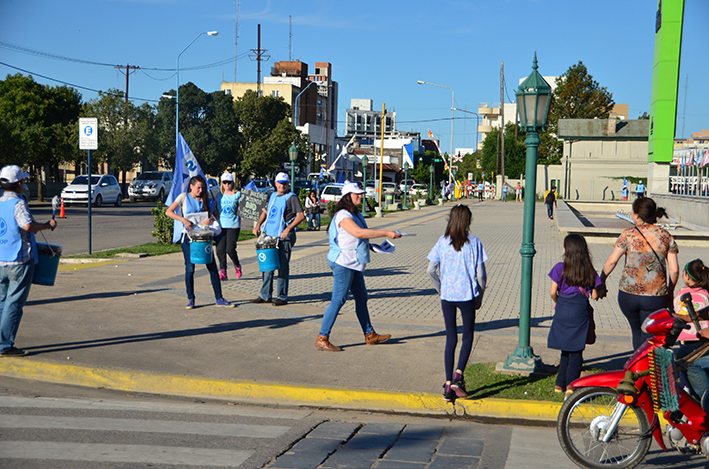
[[[59,428],[63,430],[179,433],[245,438],[278,438],[290,429],[290,427],[279,425],[36,415],[3,415],[0,419],[0,428]]]

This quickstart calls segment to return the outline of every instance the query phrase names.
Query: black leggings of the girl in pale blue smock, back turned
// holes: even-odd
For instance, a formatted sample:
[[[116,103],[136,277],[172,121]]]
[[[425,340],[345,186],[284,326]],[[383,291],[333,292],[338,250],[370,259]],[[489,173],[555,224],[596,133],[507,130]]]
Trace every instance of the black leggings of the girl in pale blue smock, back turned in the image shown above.
[[[473,350],[473,333],[475,332],[475,302],[470,301],[446,301],[441,300],[443,310],[443,321],[446,325],[446,350],[444,353],[444,363],[446,367],[446,381],[453,379],[453,361],[455,360],[455,348],[458,345],[458,324],[456,323],[456,309],[460,309],[463,318],[463,343],[460,346],[457,369],[464,371],[468,364],[470,352]]]

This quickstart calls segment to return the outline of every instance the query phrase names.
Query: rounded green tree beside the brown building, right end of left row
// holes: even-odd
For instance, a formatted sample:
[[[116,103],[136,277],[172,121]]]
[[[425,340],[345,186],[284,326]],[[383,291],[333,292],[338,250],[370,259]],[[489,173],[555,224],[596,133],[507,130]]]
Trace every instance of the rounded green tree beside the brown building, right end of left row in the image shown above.
[[[242,132],[242,180],[250,174],[266,176],[288,161],[288,148],[298,131],[288,119],[290,106],[283,98],[249,91],[234,101],[234,109]]]

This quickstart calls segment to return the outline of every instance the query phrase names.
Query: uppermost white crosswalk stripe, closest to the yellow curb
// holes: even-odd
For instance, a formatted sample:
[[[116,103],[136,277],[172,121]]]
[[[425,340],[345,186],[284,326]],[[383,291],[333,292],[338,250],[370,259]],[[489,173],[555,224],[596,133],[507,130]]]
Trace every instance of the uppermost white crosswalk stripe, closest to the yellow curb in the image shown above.
[[[300,420],[311,415],[308,410],[245,408],[225,405],[181,405],[160,402],[104,401],[100,399],[54,399],[0,396],[0,407],[47,409],[135,410],[179,414],[238,415],[272,419]]]

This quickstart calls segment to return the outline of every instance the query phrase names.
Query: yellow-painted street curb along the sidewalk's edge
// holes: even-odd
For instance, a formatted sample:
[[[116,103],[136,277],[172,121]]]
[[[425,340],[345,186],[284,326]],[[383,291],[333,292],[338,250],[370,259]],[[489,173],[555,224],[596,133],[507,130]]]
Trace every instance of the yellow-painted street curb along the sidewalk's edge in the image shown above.
[[[109,370],[39,362],[0,360],[0,375],[118,391],[228,399],[260,405],[311,406],[404,414],[556,421],[560,403],[516,399],[458,400],[438,394],[299,386]]]

